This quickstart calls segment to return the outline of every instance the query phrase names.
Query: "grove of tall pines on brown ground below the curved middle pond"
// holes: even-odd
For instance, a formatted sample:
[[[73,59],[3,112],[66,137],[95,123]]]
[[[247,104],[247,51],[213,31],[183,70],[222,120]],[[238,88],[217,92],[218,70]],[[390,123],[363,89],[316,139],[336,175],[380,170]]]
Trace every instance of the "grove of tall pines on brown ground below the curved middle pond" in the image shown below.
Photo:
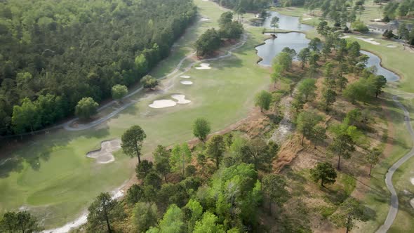
[[[375,67],[366,67],[368,55],[361,53],[358,42],[341,39],[341,33],[327,27],[324,21],[319,24],[318,32],[325,39],[323,43],[319,38],[314,38],[309,42],[309,46],[299,53],[291,48],[284,48],[274,60],[272,74],[275,82],[279,80],[291,70],[294,57],[298,58],[302,69],[307,69],[307,78],[291,89],[292,107],[296,113],[297,129],[302,134],[302,144],[307,138],[314,147],[326,139],[326,128],[320,128],[319,125],[321,116],[316,111],[309,110],[309,105],[306,111],[304,108],[307,103],[316,102],[316,74],[322,73],[324,78],[319,101],[313,106],[326,114],[334,113],[332,107],[341,95],[352,104],[370,102],[382,93],[387,84],[384,76],[375,74]],[[350,74],[354,74],[355,77],[352,82],[347,78]],[[341,157],[351,157],[356,145],[370,150],[370,145],[366,144],[361,131],[367,129],[371,118],[369,112],[352,109],[347,112],[342,124],[330,126],[329,131],[336,138],[333,138],[333,145],[328,149],[339,157],[338,170]]]

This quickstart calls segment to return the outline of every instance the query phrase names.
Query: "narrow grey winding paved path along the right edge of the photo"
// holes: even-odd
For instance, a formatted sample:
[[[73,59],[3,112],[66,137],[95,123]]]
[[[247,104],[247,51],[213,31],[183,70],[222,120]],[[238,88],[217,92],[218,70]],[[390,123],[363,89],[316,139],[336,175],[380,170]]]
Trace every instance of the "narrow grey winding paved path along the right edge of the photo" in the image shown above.
[[[406,107],[404,107],[401,104],[401,102],[398,101],[398,97],[396,95],[394,95],[392,100],[396,102],[396,105],[398,105],[401,109],[403,109],[404,123],[406,124],[406,128],[408,132],[410,132],[411,140],[413,140],[413,144],[414,144],[414,131],[413,131],[413,127],[411,126],[410,113],[408,112]],[[389,227],[391,227],[392,223],[395,220],[396,213],[398,213],[399,202],[398,202],[398,196],[396,195],[396,191],[394,189],[394,185],[392,185],[392,175],[394,175],[394,172],[396,171],[396,169],[398,169],[402,164],[408,161],[408,159],[410,159],[411,157],[414,157],[414,147],[411,148],[410,152],[408,152],[401,159],[399,159],[399,161],[396,161],[396,163],[393,164],[388,169],[388,172],[385,175],[385,184],[387,185],[387,189],[389,190],[389,192],[391,192],[391,205],[389,206],[387,218],[385,219],[384,224],[378,229],[377,233],[387,232]]]

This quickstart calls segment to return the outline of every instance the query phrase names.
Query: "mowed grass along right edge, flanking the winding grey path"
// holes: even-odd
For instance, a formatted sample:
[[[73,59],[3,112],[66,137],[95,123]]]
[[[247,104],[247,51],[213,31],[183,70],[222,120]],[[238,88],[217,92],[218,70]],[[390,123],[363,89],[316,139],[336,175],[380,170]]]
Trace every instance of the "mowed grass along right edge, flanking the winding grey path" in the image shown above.
[[[401,80],[395,84],[390,84],[387,88],[387,93],[404,95],[405,93],[414,92],[413,74],[414,74],[414,53],[410,52],[407,48],[403,49],[403,46],[392,43],[384,39],[376,39],[380,45],[373,45],[361,41],[359,39],[349,40],[358,41],[361,44],[361,48],[366,51],[370,51],[380,56],[382,59],[382,66],[396,72],[401,76]],[[387,48],[387,44],[397,45],[397,48]],[[405,97],[403,97],[405,98]],[[413,109],[413,102],[406,99],[400,100],[407,109]],[[391,98],[388,98],[387,105],[392,109],[392,124],[394,124],[394,146],[392,152],[388,154],[387,159],[381,161],[378,166],[373,169],[373,178],[370,180],[370,189],[372,192],[368,192],[364,202],[373,208],[376,213],[374,222],[363,223],[363,227],[359,229],[360,232],[374,232],[380,225],[382,225],[387,217],[389,210],[389,191],[385,187],[385,174],[392,164],[403,157],[404,154],[410,151],[412,142],[410,135],[406,130],[406,126],[403,124],[403,112],[397,107]],[[410,111],[412,112],[412,111]],[[409,204],[407,196],[403,190],[413,192],[413,187],[408,185],[408,176],[413,171],[414,162],[413,159],[407,161],[406,164],[401,166],[393,176],[393,183],[396,192],[399,194],[399,213],[394,220],[394,224],[389,229],[389,232],[414,232],[414,208]],[[413,185],[411,185],[413,186]],[[414,198],[414,197],[412,197]]]

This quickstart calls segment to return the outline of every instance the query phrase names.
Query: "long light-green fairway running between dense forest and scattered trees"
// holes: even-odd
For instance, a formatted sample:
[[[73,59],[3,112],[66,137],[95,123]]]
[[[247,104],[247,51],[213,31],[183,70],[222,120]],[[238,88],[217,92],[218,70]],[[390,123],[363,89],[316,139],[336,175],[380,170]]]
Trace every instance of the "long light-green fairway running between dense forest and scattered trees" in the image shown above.
[[[196,37],[216,21],[222,8],[196,0],[199,13],[211,22],[197,22],[178,41],[170,58],[161,62],[152,74],[156,77],[171,72],[192,51]],[[249,31],[249,30],[248,30]],[[11,158],[0,166],[0,213],[28,208],[41,218],[45,228],[57,227],[74,220],[100,192],[120,187],[135,173],[136,159],[115,153],[115,161],[97,164],[86,153],[98,149],[102,140],[120,138],[123,131],[139,124],[147,133],[143,151],[151,157],[156,145],[172,145],[192,138],[192,121],[203,116],[218,131],[248,115],[254,93],[269,85],[269,72],[256,65],[254,46],[265,36],[259,29],[248,32],[246,44],[230,58],[211,62],[212,69],[191,69],[191,86],[180,84],[180,78],[168,78],[163,93],[137,95],[135,105],[109,121],[86,131],[55,131],[38,135],[13,150]],[[186,66],[185,62],[185,66]],[[185,67],[183,66],[183,67]],[[153,100],[180,93],[192,102],[164,109],[148,107]]]

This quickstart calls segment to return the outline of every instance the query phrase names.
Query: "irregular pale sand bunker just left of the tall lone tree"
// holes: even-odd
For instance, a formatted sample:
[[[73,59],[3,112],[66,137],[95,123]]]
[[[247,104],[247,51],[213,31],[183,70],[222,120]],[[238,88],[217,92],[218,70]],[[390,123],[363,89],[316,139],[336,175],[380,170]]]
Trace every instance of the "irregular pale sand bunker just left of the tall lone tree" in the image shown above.
[[[121,140],[103,141],[100,143],[100,149],[88,152],[86,157],[96,159],[98,164],[108,164],[115,161],[112,152],[121,149]]]

